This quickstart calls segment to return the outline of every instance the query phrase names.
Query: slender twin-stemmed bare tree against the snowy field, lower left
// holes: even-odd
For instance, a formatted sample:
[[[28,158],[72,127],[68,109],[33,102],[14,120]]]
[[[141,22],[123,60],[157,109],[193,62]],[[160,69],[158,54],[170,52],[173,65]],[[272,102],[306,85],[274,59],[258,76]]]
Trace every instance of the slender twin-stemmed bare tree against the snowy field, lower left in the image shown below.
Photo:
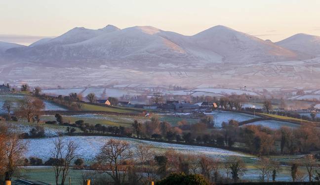
[[[51,151],[51,154],[55,160],[53,169],[55,173],[56,185],[59,184],[60,176],[60,185],[64,185],[66,177],[69,174],[69,168],[72,166],[72,162],[78,157],[77,149],[78,145],[74,141],[65,143],[61,137],[54,141],[54,149]]]

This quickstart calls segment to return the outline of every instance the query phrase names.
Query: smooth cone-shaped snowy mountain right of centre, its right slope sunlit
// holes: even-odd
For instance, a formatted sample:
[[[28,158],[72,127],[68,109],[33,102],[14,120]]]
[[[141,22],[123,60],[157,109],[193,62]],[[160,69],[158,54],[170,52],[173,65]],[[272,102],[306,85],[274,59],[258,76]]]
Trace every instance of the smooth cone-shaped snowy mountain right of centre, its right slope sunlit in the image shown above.
[[[201,48],[217,52],[227,61],[271,62],[297,57],[288,49],[225,26],[204,30],[193,36],[193,39]]]

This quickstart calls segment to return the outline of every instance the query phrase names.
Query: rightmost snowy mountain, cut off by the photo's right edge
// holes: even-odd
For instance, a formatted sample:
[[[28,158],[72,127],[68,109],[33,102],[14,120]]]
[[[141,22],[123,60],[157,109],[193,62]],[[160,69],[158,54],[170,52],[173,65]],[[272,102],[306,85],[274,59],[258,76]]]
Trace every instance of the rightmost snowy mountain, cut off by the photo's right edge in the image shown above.
[[[320,55],[320,37],[307,34],[296,34],[276,43],[292,51],[308,54],[311,57]]]

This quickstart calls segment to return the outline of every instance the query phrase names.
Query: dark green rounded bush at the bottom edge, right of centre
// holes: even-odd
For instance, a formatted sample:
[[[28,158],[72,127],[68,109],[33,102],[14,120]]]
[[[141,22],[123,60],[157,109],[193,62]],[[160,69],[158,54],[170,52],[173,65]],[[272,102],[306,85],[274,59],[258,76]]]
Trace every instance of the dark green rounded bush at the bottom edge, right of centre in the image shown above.
[[[209,183],[199,174],[185,175],[171,174],[162,179],[157,185],[209,185]]]

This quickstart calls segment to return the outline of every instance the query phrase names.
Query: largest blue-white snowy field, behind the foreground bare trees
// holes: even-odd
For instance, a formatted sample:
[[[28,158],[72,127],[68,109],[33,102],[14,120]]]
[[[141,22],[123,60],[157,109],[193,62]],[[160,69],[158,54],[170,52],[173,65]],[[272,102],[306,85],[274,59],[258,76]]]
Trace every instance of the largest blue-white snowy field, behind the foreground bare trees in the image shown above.
[[[53,141],[56,138],[44,138],[44,139],[24,139],[28,142],[28,151],[26,157],[36,156],[47,160],[50,157],[50,150],[53,148]],[[79,155],[87,161],[92,160],[95,155],[99,152],[99,149],[103,144],[105,144],[109,139],[121,139],[130,142],[132,149],[137,144],[146,144],[152,145],[154,149],[161,152],[165,149],[174,149],[182,153],[191,153],[191,154],[206,154],[208,156],[229,156],[229,155],[238,155],[242,157],[252,157],[239,152],[212,148],[212,147],[203,147],[203,146],[192,146],[192,145],[182,145],[182,144],[169,144],[162,142],[153,142],[137,139],[127,139],[127,138],[117,138],[117,137],[103,137],[103,136],[75,136],[64,137],[65,141],[73,140],[79,145]]]

